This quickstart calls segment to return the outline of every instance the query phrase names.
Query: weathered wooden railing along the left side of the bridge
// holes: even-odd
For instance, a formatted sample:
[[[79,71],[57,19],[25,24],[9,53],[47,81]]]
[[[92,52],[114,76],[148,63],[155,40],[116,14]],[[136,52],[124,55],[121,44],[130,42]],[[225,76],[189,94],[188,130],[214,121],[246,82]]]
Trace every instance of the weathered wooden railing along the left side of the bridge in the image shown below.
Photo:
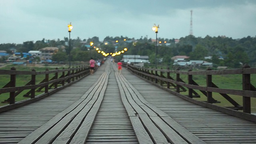
[[[0,70],[0,75],[10,76],[10,81],[7,82],[5,86],[0,89],[0,96],[4,93],[9,93],[9,98],[4,100],[2,103],[9,103],[9,105],[1,106],[0,112],[10,110],[12,108],[16,108],[19,106],[23,106],[28,103],[32,103],[36,100],[40,100],[50,94],[57,92],[75,82],[78,82],[84,76],[90,74],[89,66],[79,66],[76,68],[68,68],[68,69],[58,69],[48,70],[36,72],[36,70],[32,71],[18,71],[16,68],[12,67],[11,70]],[[17,86],[16,84],[16,76],[18,75],[28,75],[31,76],[30,79],[24,86]],[[36,79],[38,76],[44,78],[40,79],[40,82],[36,84]],[[50,78],[52,76],[52,78]],[[43,91],[42,91],[43,90]],[[22,92],[24,97],[30,97],[30,99],[22,100],[16,102],[15,98]],[[40,93],[36,95],[36,92]]]

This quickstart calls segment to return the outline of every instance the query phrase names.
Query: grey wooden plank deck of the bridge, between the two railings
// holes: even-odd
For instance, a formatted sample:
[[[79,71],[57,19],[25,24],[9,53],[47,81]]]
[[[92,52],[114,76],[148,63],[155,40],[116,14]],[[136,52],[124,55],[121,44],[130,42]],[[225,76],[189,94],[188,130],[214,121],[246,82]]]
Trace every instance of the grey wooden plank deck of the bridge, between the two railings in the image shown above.
[[[255,144],[256,124],[187,102],[106,62],[80,82],[0,114],[0,144]]]

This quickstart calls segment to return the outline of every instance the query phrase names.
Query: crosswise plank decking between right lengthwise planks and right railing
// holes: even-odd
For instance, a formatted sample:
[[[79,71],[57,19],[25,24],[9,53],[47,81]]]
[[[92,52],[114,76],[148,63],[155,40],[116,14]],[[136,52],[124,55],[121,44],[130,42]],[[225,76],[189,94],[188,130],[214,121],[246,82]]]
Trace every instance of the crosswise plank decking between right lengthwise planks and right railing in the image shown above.
[[[188,102],[124,71],[123,76],[152,105],[170,116],[163,117],[182,136],[196,143],[197,136],[209,144],[254,144],[256,123]],[[137,78],[137,79],[136,79]],[[143,85],[143,86],[142,86]],[[167,119],[166,119],[167,118]],[[177,128],[175,128],[178,126]],[[182,127],[180,127],[182,126]],[[183,129],[183,130],[182,130]],[[191,135],[184,132],[189,131]]]

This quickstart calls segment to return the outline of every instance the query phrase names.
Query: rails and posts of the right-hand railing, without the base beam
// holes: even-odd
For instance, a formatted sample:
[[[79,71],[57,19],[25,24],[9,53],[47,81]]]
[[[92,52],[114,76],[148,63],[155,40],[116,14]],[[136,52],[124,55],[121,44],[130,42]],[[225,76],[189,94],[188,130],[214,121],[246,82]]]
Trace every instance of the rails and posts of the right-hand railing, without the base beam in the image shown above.
[[[223,96],[230,104],[234,105],[234,107],[228,107],[234,110],[243,110],[245,113],[251,113],[251,100],[250,98],[256,98],[256,88],[250,83],[250,74],[256,74],[256,68],[250,68],[247,64],[243,66],[243,68],[239,69],[229,69],[229,70],[211,70],[208,68],[204,71],[182,71],[179,70],[169,70],[169,69],[158,69],[158,68],[140,68],[136,66],[129,65],[130,71],[132,71],[134,74],[137,74],[138,76],[141,76],[145,80],[154,83],[156,85],[159,85],[162,88],[166,88],[168,90],[171,90],[174,94],[180,95],[181,92],[180,89],[182,87],[185,87],[188,89],[188,97],[194,98],[198,96],[193,96],[193,94],[198,95],[195,90],[201,91],[206,97],[207,97],[207,103],[212,104],[218,102],[214,98],[212,98],[212,93],[219,93],[220,96]],[[151,71],[151,72],[150,72]],[[160,75],[158,75],[158,72],[160,72]],[[143,74],[144,73],[144,74]],[[164,76],[164,73],[166,73],[166,76]],[[176,75],[176,80],[170,78],[170,74]],[[183,80],[180,78],[180,74],[184,74],[188,76],[188,84],[186,84]],[[242,75],[242,90],[232,90],[232,89],[226,89],[226,88],[219,88],[212,82],[213,75],[226,75],[226,74],[241,74]],[[199,86],[194,80],[193,75],[203,75],[206,77],[206,86]],[[158,82],[160,81],[160,83]],[[163,82],[167,84],[167,86],[163,86]],[[172,85],[171,85],[172,84]],[[236,102],[234,99],[232,99],[229,94],[236,95],[236,96],[242,96],[243,98],[243,106],[240,106],[238,102]],[[199,96],[200,97],[200,96]]]

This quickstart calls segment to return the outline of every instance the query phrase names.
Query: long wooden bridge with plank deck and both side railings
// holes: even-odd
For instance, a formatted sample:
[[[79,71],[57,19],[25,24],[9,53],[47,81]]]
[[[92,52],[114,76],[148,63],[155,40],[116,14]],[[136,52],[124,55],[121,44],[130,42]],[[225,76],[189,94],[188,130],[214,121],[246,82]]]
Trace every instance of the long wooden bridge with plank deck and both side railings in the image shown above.
[[[191,75],[186,85],[179,75],[174,82],[170,71],[166,82],[162,72],[125,67],[119,73],[116,64],[106,61],[93,75],[76,68],[66,74],[56,70],[51,80],[51,72],[32,72],[26,86],[10,80],[0,89],[0,94],[10,93],[6,101],[11,103],[0,108],[0,144],[256,144],[256,116],[250,108],[229,98],[234,107],[219,107],[211,97],[214,90],[225,97],[237,92],[248,104],[256,97],[250,82],[242,94],[224,93],[193,84]],[[1,72],[14,79],[18,74]],[[46,76],[35,85],[36,74]],[[188,96],[180,93],[184,86]],[[194,100],[198,94],[194,88],[206,92],[208,102]],[[15,102],[17,92],[25,89],[31,98]],[[37,89],[44,92],[36,96]]]

